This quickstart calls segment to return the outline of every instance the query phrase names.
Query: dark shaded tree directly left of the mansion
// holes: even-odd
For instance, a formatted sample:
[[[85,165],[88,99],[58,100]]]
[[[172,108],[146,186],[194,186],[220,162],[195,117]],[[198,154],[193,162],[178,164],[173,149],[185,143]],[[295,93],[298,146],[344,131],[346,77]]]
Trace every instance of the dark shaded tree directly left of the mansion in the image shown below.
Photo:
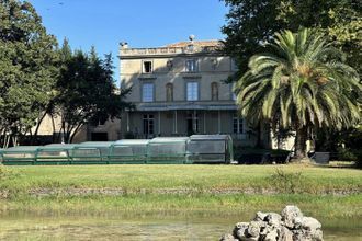
[[[113,79],[112,56],[100,59],[92,48],[90,54],[71,51],[66,41],[60,49],[63,67],[57,82],[57,97],[52,116],[59,116],[60,134],[71,142],[79,128],[109,118],[120,118],[132,105],[124,101],[129,90],[118,92]]]

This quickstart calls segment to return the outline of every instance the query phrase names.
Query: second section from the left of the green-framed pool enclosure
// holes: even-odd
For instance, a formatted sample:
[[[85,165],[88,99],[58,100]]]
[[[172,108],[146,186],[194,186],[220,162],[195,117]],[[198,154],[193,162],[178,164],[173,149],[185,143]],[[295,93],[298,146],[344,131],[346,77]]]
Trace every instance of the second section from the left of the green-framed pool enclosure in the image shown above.
[[[76,147],[75,144],[50,144],[39,147],[36,152],[36,163],[58,164],[70,163],[70,152]]]

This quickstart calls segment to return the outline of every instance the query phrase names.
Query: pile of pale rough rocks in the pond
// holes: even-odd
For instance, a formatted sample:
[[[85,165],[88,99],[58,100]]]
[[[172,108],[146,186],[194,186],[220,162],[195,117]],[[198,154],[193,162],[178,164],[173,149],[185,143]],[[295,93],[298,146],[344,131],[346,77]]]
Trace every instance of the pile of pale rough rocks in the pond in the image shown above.
[[[298,207],[286,206],[281,215],[258,211],[250,222],[236,223],[220,241],[323,241],[320,222],[305,217]]]

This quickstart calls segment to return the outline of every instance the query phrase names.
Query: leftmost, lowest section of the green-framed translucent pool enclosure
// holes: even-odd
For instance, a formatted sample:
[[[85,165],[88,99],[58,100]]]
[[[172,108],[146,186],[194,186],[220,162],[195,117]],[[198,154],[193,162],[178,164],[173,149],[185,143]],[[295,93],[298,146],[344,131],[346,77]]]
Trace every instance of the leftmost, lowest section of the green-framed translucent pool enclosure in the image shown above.
[[[39,146],[19,146],[2,150],[2,162],[12,164],[34,164]]]

